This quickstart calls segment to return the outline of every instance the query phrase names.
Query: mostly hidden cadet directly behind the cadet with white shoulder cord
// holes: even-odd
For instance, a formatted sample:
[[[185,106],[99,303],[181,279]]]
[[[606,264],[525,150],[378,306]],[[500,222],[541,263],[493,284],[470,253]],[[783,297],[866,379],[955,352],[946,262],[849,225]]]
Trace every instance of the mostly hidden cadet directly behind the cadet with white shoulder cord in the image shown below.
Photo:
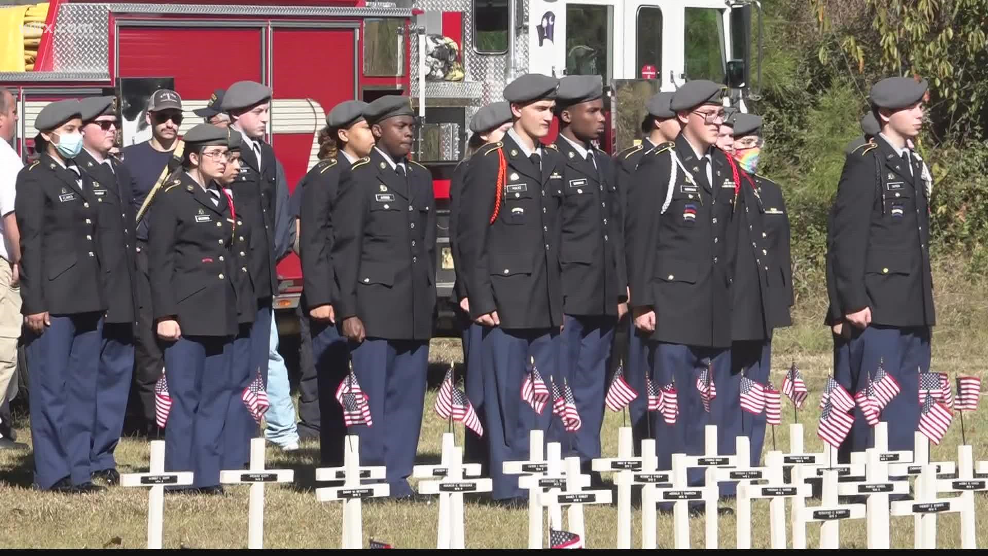
[[[624,231],[625,215],[627,214],[627,191],[634,185],[632,176],[638,167],[638,163],[641,161],[641,157],[651,152],[656,146],[666,146],[666,143],[671,145],[679,136],[680,132],[683,131],[683,126],[680,124],[679,119],[676,118],[676,113],[669,107],[672,98],[673,93],[656,93],[652,98],[648,99],[648,102],[645,103],[645,109],[648,111],[648,114],[645,115],[641,123],[641,131],[645,134],[645,137],[638,144],[629,146],[615,155],[615,181],[617,183],[617,193],[620,196],[622,232]],[[625,269],[625,277],[627,276],[627,257],[628,253],[625,249],[624,261],[622,261]],[[648,350],[645,348],[642,340],[642,332],[634,326],[634,319],[630,318],[629,315],[625,315],[620,320],[618,326],[627,328],[627,354],[623,357],[624,380],[639,394],[628,405],[628,413],[631,416],[631,427],[634,435],[634,453],[640,455],[641,439],[662,437],[660,431],[665,430],[668,425],[661,417],[653,418],[651,422],[645,420],[648,414],[648,397],[646,394],[648,387],[645,384]],[[623,349],[624,346],[616,345],[616,350]],[[672,382],[672,377],[667,376],[666,380],[660,380],[659,382],[662,384],[658,386],[665,386]],[[670,462],[666,463],[671,465]]]

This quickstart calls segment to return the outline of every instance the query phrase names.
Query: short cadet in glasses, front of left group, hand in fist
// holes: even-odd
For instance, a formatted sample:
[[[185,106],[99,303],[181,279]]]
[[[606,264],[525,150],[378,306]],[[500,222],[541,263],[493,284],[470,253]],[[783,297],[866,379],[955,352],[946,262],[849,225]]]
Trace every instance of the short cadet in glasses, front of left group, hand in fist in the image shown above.
[[[229,161],[226,130],[201,124],[184,140],[184,171],[156,200],[148,240],[154,320],[172,397],[165,467],[193,471],[193,490],[216,494],[223,426],[239,385],[232,372],[239,231],[217,185]]]

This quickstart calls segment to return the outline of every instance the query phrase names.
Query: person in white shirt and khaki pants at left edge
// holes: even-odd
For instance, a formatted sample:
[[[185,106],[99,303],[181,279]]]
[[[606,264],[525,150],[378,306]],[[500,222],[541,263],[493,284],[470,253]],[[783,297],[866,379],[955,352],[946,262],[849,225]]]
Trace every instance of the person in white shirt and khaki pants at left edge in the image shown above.
[[[17,392],[17,338],[21,335],[21,291],[17,264],[21,258],[20,233],[14,217],[17,173],[24,167],[11,147],[17,127],[17,103],[0,88],[0,449],[27,448],[14,441],[10,399]]]

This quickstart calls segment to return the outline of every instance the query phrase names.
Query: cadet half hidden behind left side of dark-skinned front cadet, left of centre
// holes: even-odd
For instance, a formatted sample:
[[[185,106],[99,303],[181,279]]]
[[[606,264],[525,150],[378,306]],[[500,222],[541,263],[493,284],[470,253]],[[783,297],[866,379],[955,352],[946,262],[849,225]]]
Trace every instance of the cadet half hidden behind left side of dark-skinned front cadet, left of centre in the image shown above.
[[[350,100],[336,105],[326,117],[329,149],[302,178],[299,242],[302,299],[312,334],[312,358],[319,390],[319,443],[322,464],[343,465],[347,427],[336,388],[347,376],[350,348],[340,334],[333,301],[339,299],[333,270],[333,204],[341,176],[355,162],[369,156],[374,139],[364,118],[368,103]],[[325,143],[324,143],[325,145]]]

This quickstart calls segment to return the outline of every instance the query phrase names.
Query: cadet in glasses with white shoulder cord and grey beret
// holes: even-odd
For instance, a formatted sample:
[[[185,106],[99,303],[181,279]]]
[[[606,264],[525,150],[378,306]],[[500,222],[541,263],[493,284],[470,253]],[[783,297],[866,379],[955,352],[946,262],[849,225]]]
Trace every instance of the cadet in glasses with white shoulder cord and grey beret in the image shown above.
[[[671,376],[679,398],[680,415],[673,433],[662,439],[661,458],[703,453],[703,426],[720,422],[721,384],[727,386],[730,377],[725,233],[734,184],[724,152],[713,146],[723,123],[720,94],[720,85],[706,80],[689,81],[676,91],[670,108],[683,133],[673,146],[642,156],[628,190],[625,233],[634,324],[648,334],[647,372],[657,382]],[[734,438],[721,437],[718,448],[733,453]],[[690,484],[702,477],[701,470],[691,470]]]

